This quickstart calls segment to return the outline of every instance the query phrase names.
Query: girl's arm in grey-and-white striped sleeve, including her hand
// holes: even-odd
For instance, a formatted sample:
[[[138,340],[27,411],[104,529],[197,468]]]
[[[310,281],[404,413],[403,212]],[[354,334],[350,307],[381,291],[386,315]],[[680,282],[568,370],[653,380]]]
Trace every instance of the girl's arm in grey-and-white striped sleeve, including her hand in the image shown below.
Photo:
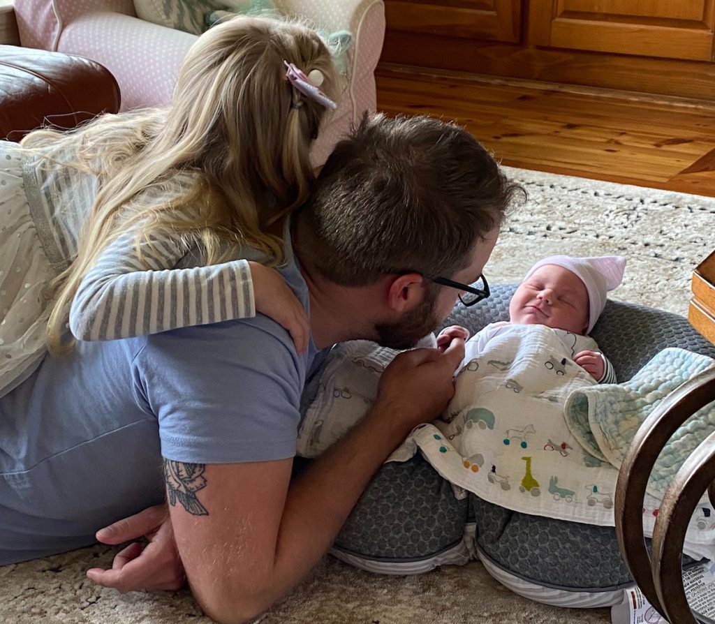
[[[302,304],[275,269],[245,259],[174,269],[183,252],[161,232],[141,242],[134,232],[109,244],[79,284],[69,327],[79,340],[114,340],[265,313],[285,327],[297,350],[310,330]],[[147,269],[148,265],[148,269]],[[258,274],[257,292],[252,271]]]

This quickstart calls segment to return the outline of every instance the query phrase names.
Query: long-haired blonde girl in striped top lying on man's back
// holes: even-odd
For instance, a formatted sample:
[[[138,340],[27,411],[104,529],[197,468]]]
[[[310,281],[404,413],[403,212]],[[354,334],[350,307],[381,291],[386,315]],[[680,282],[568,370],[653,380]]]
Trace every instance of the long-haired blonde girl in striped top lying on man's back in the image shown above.
[[[169,107],[0,142],[0,395],[68,326],[111,340],[262,312],[305,350],[272,267],[336,80],[314,31],[239,16],[189,49]]]

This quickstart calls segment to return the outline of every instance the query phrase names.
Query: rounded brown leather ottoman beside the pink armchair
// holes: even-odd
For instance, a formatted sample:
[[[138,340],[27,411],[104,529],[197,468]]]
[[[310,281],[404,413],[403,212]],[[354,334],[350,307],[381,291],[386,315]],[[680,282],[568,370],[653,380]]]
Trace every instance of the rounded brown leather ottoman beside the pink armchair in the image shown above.
[[[0,139],[41,126],[71,129],[119,110],[109,70],[82,56],[0,45]]]

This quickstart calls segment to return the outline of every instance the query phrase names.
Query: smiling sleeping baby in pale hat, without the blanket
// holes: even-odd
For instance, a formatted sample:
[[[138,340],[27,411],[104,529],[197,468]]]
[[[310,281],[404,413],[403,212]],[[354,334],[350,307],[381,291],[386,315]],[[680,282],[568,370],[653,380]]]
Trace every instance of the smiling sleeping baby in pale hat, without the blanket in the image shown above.
[[[625,267],[622,256],[546,257],[529,269],[511,297],[508,322],[491,323],[471,338],[464,327],[446,327],[437,337],[437,347],[444,350],[454,338],[466,340],[464,361],[468,362],[489,340],[515,325],[546,325],[571,351],[573,362],[593,379],[616,383],[613,365],[588,334],[606,306],[606,293],[621,284]]]

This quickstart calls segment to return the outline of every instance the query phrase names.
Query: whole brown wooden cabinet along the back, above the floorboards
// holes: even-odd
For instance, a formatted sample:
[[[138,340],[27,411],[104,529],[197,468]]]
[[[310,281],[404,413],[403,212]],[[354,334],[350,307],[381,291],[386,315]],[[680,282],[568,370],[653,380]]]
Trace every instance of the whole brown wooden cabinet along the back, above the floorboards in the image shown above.
[[[383,63],[715,101],[715,0],[385,0]]]

